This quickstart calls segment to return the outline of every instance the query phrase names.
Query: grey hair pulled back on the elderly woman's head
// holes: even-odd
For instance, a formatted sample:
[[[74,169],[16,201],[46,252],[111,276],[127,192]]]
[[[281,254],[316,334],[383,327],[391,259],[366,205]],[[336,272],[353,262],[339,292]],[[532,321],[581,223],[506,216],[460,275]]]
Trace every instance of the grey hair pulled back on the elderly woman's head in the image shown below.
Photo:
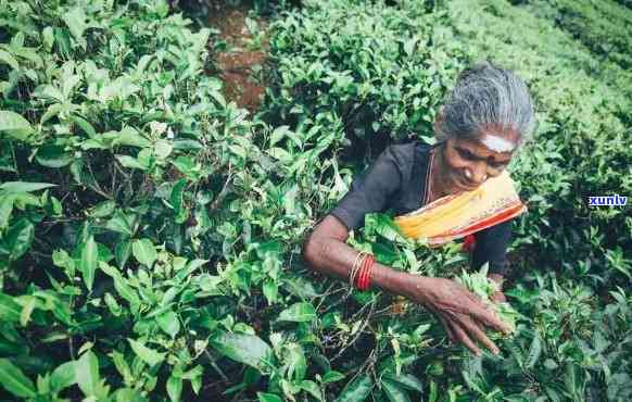
[[[531,96],[522,79],[511,71],[483,62],[458,76],[443,108],[443,118],[438,121],[437,136],[475,138],[486,126],[501,126],[517,130],[523,143],[534,125]]]

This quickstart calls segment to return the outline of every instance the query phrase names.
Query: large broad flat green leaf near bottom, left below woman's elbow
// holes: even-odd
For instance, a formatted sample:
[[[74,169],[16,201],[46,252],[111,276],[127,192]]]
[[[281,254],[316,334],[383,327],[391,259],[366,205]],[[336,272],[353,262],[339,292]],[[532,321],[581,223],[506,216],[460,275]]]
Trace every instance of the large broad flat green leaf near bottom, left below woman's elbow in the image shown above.
[[[271,359],[270,347],[256,335],[220,332],[211,340],[211,346],[228,359],[255,368]]]

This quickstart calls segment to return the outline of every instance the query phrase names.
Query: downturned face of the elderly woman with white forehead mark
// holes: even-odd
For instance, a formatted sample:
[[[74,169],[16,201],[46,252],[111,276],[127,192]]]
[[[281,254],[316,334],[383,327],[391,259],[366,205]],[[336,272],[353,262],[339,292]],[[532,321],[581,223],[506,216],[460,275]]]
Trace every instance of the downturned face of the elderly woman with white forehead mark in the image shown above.
[[[446,140],[443,160],[452,190],[471,191],[503,173],[519,139],[515,130],[488,129],[476,139]]]

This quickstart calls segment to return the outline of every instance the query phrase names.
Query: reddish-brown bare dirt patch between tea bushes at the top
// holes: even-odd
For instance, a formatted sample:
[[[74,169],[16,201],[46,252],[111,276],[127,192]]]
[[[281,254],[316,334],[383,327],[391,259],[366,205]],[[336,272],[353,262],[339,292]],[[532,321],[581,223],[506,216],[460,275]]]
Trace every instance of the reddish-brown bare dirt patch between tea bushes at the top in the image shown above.
[[[266,21],[253,20],[257,28],[251,33],[247,24],[251,9],[248,2],[237,7],[223,2],[212,8],[208,25],[219,29],[219,37],[227,43],[226,51],[215,53],[226,99],[253,113],[261,105],[265,91],[260,72],[266,59],[267,42],[262,34]]]

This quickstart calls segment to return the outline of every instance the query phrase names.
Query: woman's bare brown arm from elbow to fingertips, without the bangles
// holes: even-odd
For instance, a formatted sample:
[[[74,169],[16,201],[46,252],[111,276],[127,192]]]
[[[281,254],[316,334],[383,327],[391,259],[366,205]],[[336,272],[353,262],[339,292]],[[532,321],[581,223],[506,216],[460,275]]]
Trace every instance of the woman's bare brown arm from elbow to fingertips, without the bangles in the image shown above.
[[[346,227],[328,215],[305,241],[303,259],[315,271],[349,280],[357,251],[346,244],[347,238]],[[424,304],[438,316],[452,340],[464,343],[476,354],[480,354],[480,349],[472,339],[498,353],[497,347],[485,336],[484,326],[509,331],[480,299],[453,280],[410,275],[376,263],[371,282]]]

